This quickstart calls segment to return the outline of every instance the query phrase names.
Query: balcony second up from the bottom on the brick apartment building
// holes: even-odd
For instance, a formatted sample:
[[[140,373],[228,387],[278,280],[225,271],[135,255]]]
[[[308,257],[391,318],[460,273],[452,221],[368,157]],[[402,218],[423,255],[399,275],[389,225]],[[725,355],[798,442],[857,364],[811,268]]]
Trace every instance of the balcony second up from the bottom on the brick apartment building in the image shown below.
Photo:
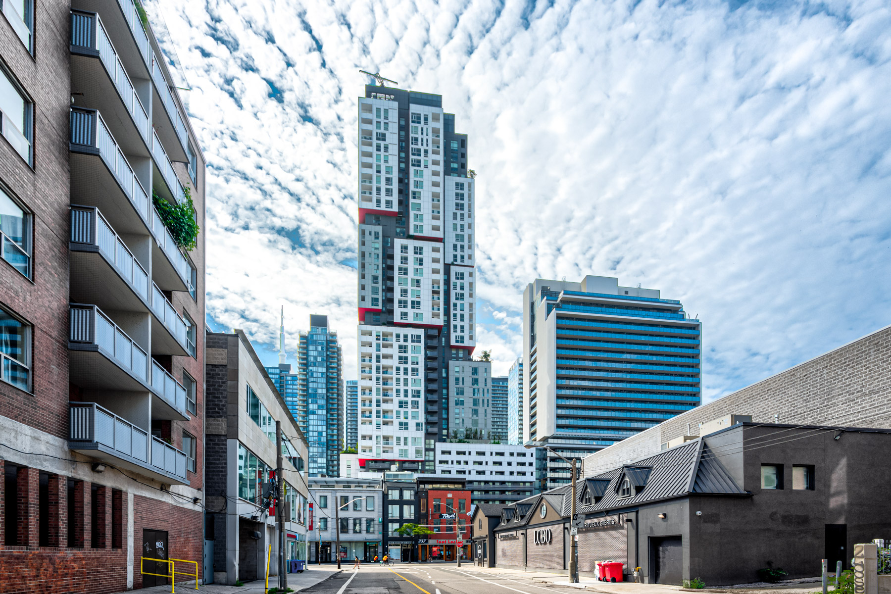
[[[69,379],[88,389],[151,392],[152,419],[188,420],[185,388],[95,305],[69,305]]]

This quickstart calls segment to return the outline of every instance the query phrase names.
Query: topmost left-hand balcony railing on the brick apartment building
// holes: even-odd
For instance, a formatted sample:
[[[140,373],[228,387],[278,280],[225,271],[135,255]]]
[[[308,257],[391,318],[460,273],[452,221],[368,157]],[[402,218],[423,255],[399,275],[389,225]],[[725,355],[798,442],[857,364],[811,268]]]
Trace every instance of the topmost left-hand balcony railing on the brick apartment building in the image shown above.
[[[111,45],[102,19],[94,12],[71,11],[71,46],[82,47],[99,53],[99,59],[109,73],[111,82],[117,87],[121,99],[124,102],[143,141],[149,142],[149,116],[139,101],[139,96],[124,70],[118,53]]]

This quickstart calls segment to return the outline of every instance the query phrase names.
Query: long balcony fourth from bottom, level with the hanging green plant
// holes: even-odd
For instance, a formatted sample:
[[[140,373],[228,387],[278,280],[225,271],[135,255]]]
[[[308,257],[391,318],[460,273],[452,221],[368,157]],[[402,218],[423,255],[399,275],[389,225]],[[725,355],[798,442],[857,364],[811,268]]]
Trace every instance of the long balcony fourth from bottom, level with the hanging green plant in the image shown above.
[[[97,110],[71,109],[69,149],[71,201],[100,208],[119,233],[151,232],[157,244],[152,247],[152,278],[162,289],[189,290],[188,261]]]

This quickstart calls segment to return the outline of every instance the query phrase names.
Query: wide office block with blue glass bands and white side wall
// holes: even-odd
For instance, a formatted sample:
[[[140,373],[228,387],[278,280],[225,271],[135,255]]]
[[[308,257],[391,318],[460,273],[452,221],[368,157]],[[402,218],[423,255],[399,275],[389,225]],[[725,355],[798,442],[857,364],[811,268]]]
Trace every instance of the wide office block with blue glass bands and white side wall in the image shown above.
[[[701,328],[680,301],[601,276],[537,279],[523,297],[524,441],[581,458],[699,405]],[[541,454],[537,488],[568,483]]]

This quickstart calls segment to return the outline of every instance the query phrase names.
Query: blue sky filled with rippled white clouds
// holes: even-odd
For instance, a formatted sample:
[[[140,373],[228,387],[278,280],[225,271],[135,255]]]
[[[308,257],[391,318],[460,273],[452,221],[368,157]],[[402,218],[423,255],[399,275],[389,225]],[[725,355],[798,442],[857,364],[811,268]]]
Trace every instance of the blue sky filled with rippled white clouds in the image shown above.
[[[443,95],[477,174],[480,350],[535,278],[660,289],[708,402],[891,323],[887,2],[153,0],[207,159],[207,310],[356,378],[356,98]],[[156,26],[157,28],[157,26]]]

